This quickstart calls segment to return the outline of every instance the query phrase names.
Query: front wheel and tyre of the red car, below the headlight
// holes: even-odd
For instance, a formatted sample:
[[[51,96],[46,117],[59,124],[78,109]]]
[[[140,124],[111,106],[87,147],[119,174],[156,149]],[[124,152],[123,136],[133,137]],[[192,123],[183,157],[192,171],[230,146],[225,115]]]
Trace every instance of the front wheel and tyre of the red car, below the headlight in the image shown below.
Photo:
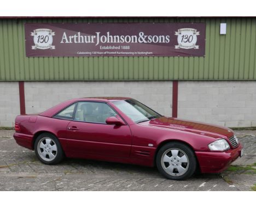
[[[196,170],[194,151],[189,146],[170,142],[161,147],[156,155],[156,166],[167,179],[184,180]]]

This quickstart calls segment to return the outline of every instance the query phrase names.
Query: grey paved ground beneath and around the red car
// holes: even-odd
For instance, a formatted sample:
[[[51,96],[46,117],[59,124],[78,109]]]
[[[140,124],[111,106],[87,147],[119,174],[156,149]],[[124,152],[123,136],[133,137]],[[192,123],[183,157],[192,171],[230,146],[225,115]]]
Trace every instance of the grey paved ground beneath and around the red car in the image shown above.
[[[245,154],[222,174],[195,175],[185,181],[163,178],[156,168],[66,159],[46,166],[33,151],[0,130],[0,191],[251,191],[256,183],[256,131],[237,131]]]

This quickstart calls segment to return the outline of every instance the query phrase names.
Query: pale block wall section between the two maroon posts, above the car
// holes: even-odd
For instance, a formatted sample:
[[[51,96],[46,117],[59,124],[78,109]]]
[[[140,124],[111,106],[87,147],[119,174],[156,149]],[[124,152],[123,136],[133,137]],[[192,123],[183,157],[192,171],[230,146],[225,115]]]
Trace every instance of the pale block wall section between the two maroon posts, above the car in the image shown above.
[[[75,97],[132,97],[155,111],[171,116],[171,81],[25,82],[26,113],[42,112]]]

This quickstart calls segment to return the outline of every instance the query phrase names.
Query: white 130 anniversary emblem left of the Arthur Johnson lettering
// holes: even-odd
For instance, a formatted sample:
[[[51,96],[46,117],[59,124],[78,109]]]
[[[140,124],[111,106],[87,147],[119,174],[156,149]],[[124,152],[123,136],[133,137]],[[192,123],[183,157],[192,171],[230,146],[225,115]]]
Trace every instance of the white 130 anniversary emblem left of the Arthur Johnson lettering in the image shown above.
[[[55,49],[55,46],[51,45],[53,44],[53,35],[55,35],[55,32],[52,32],[51,29],[35,29],[34,32],[31,32],[31,35],[34,37],[34,46],[32,46],[32,49]]]

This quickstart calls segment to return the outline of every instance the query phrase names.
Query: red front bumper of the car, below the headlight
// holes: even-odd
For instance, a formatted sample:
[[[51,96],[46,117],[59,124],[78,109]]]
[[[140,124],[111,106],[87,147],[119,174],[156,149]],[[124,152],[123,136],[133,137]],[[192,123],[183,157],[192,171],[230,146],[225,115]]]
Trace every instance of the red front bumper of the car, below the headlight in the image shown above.
[[[239,143],[236,149],[229,149],[224,152],[200,152],[196,151],[201,173],[220,173],[241,156],[242,144]]]

